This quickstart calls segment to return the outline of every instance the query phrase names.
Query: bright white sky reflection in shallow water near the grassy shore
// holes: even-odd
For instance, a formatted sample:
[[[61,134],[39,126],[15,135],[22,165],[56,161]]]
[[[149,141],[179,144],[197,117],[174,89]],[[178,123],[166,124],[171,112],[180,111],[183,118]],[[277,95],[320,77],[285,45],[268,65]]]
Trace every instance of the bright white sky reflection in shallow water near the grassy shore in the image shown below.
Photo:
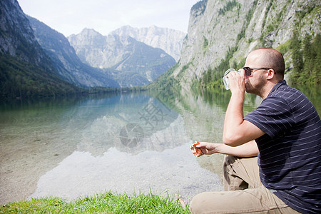
[[[173,149],[145,151],[136,156],[110,148],[103,156],[75,151],[41,176],[31,197],[56,195],[67,199],[103,193],[179,193],[187,198],[205,190],[221,190],[218,175],[200,168],[189,143]]]

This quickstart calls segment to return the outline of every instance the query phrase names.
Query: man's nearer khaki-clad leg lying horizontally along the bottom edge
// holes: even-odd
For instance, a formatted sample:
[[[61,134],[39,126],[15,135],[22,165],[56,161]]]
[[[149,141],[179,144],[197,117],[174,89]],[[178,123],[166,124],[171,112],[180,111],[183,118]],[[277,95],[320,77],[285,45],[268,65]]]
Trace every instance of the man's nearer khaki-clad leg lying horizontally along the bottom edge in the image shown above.
[[[289,213],[297,211],[261,185],[245,190],[205,192],[195,195],[191,213]]]

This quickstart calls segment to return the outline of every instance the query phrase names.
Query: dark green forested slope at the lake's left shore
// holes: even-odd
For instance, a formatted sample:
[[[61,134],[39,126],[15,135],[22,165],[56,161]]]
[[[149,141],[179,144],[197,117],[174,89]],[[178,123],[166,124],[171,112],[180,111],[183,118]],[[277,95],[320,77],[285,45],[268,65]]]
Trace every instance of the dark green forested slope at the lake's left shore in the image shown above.
[[[0,101],[12,98],[60,97],[107,93],[119,88],[81,88],[63,81],[54,71],[0,54]]]

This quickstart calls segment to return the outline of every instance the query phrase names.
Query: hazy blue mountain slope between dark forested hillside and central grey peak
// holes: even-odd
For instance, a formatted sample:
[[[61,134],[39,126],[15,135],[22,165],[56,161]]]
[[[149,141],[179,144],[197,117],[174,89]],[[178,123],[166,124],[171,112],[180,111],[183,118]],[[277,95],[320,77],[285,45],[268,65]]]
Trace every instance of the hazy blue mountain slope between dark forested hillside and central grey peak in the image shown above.
[[[28,18],[37,41],[50,56],[56,70],[64,80],[83,87],[119,87],[118,83],[110,75],[108,76],[108,73],[102,73],[99,69],[81,62],[63,34],[37,19],[30,16]]]

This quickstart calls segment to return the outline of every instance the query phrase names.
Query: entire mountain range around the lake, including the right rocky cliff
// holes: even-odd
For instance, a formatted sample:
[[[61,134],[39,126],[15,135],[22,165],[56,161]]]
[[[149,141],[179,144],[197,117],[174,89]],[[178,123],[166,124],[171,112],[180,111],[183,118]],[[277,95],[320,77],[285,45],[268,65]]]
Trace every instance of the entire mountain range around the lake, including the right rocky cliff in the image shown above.
[[[320,44],[318,0],[198,1],[187,35],[123,26],[107,36],[84,29],[66,39],[27,17],[16,0],[0,1],[0,20],[1,97],[57,96],[156,78],[158,86],[217,87],[225,69],[241,68],[245,56],[260,47],[281,51],[290,72],[297,62],[320,58],[320,45],[312,46]],[[301,73],[320,82],[319,70]]]

